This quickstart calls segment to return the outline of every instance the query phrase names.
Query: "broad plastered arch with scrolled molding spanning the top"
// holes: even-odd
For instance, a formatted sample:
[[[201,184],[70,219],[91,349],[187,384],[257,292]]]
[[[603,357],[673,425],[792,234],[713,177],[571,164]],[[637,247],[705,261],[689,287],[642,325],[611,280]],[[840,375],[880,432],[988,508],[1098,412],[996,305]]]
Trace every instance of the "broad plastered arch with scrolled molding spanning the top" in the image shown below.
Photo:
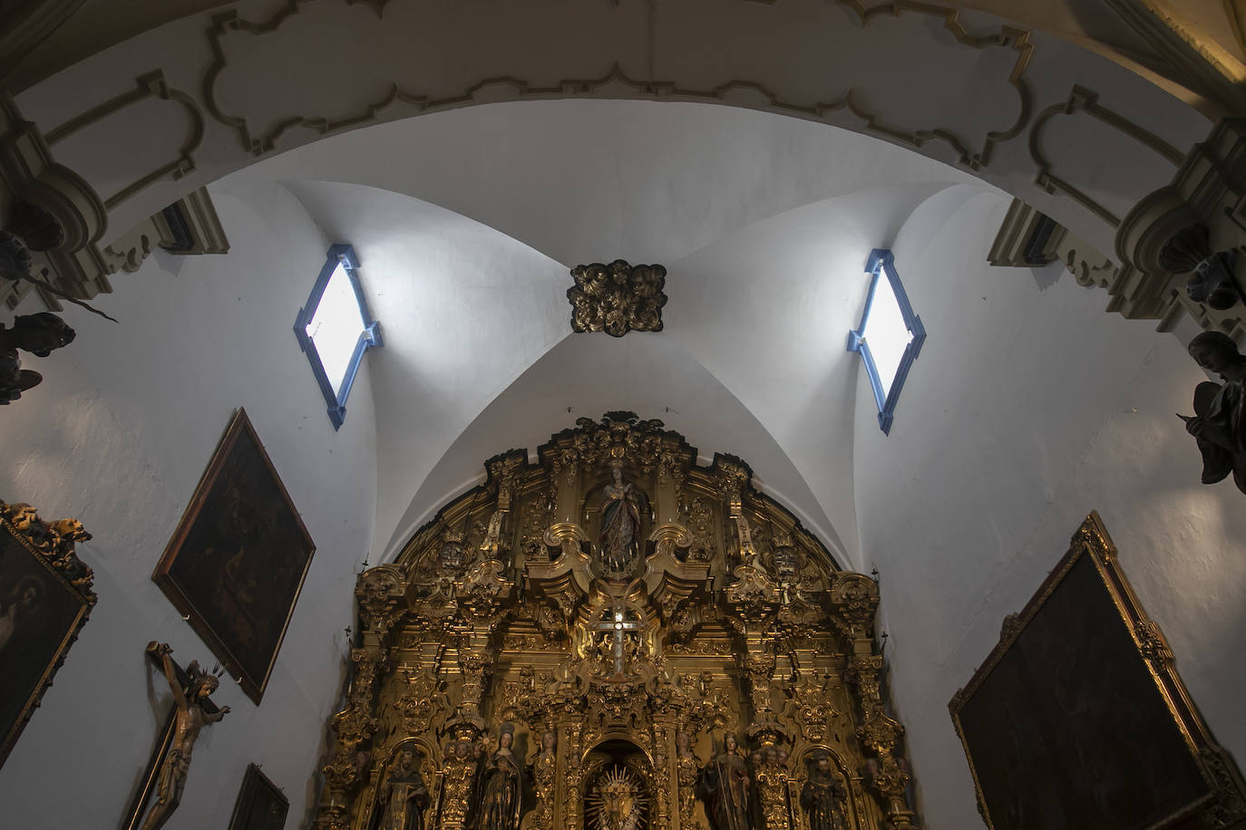
[[[558,22],[569,25],[562,20],[566,10],[556,2],[515,12],[531,22],[528,34],[521,32],[518,41],[511,36],[496,42],[502,34],[515,32],[472,29],[481,20],[492,20],[481,17],[485,14],[481,9],[475,11],[477,17],[468,16],[461,22],[435,17],[425,21],[422,11],[396,0],[364,4],[375,12],[365,11],[364,15],[351,11],[353,6],[363,7],[359,0],[315,4],[284,0],[275,12],[272,6],[263,6],[267,14],[257,14],[257,5],[244,2],[224,15],[204,12],[168,24],[125,49],[87,58],[22,95],[24,108],[29,107],[32,119],[45,128],[76,123],[91,113],[96,122],[91,126],[98,131],[103,110],[111,110],[108,114],[122,112],[122,117],[110,118],[110,126],[122,123],[128,134],[142,133],[147,127],[152,139],[152,131],[171,128],[145,123],[146,113],[137,108],[132,110],[132,116],[125,114],[130,112],[126,107],[135,107],[136,102],[122,101],[123,93],[103,103],[82,98],[88,98],[91,90],[106,87],[106,78],[115,76],[116,67],[122,63],[130,72],[148,63],[143,71],[128,75],[130,78],[158,73],[168,78],[172,90],[198,91],[201,101],[194,101],[193,96],[178,100],[184,106],[201,108],[209,117],[202,143],[196,147],[191,162],[181,158],[164,177],[135,170],[127,172],[131,180],[117,182],[116,161],[105,158],[115,151],[101,151],[100,158],[81,166],[75,163],[77,159],[71,162],[82,168],[80,172],[97,189],[115,194],[110,198],[110,213],[115,214],[110,235],[123,233],[183,192],[247,166],[259,156],[329,133],[478,103],[598,97],[739,106],[870,134],[954,163],[1048,213],[1073,212],[1074,215],[1065,213],[1059,218],[1099,248],[1108,249],[1111,223],[1104,223],[1101,215],[1075,199],[1062,207],[1063,189],[1052,192],[1042,180],[1025,183],[1035,174],[1032,161],[1024,157],[1022,142],[1015,147],[1009,142],[1033,127],[1035,105],[1042,106],[1044,100],[1052,101],[1057,95],[1064,97],[1065,93],[1057,88],[1068,90],[1068,86],[1058,78],[1070,73],[1077,82],[1094,86],[1115,110],[1129,113],[1113,123],[1114,128],[1126,127],[1123,142],[1133,141],[1130,131],[1160,131],[1169,143],[1186,147],[1205,131],[1195,126],[1195,121],[1202,122],[1196,111],[1190,110],[1184,118],[1177,116],[1174,107],[1181,105],[1175,100],[1158,108],[1136,106],[1138,101],[1155,95],[1164,97],[1164,93],[1150,81],[1111,66],[1082,47],[1018,29],[983,12],[920,0],[891,0],[872,6],[860,0],[739,2],[733,6],[733,15],[713,20],[700,17],[695,9],[680,11],[674,6],[658,6],[667,20],[662,26],[650,27],[648,34],[640,31],[643,12],[638,7],[603,5],[582,12],[584,25],[589,26],[586,40],[592,47],[567,55],[557,51],[551,55],[551,42],[557,42],[558,36],[541,34]],[[305,21],[313,12],[319,15],[316,25],[300,22],[304,29],[289,30],[292,21]],[[407,17],[399,20],[395,12]],[[247,14],[252,16],[245,17]],[[208,20],[212,25],[203,26]],[[379,24],[380,20],[384,24]],[[792,29],[789,22],[794,20],[804,20],[809,24],[805,29],[816,34]],[[400,54],[394,39],[379,41],[376,60],[368,62],[354,60],[351,54],[335,57],[316,51],[324,46],[318,39],[325,31],[333,31],[334,39],[340,36],[343,42],[358,49],[359,44],[371,44],[371,39],[384,34],[386,27],[416,21],[425,39],[422,60],[426,63],[430,60],[427,46],[432,44],[434,55],[437,50],[447,57],[457,55],[446,63],[451,68],[445,72],[431,72],[427,66],[421,68],[419,61],[407,61]],[[754,36],[758,25],[766,26],[773,35],[766,47],[730,52],[733,44],[743,44],[739,39]],[[618,35],[616,26],[627,31]],[[269,44],[269,37],[275,41]],[[162,49],[155,49],[156,45]],[[728,57],[710,63],[695,58],[697,50],[710,45],[726,49],[724,55]],[[511,52],[491,57],[505,51],[502,46]],[[308,55],[314,55],[315,60],[307,65],[308,71],[300,71],[298,60],[310,60]],[[880,55],[883,60],[877,60]],[[335,60],[346,62],[321,86],[323,66]],[[437,61],[429,63],[441,65]],[[987,66],[986,76],[979,71],[983,65]],[[239,71],[249,75],[235,76]],[[369,71],[375,75],[369,76]],[[401,77],[404,72],[411,77]],[[1103,73],[1110,80],[1099,77]],[[82,82],[86,75],[91,77],[90,85]],[[412,81],[426,88],[416,88]],[[321,102],[316,91],[329,86],[331,92],[321,96]],[[1129,106],[1118,106],[1120,96],[1131,100]],[[76,103],[78,101],[81,103]],[[189,114],[202,117],[198,112]],[[169,136],[168,141],[184,147],[181,136]],[[101,146],[108,143],[100,142]],[[117,142],[111,144],[118,146]],[[1111,153],[1110,148],[1096,149]],[[193,173],[188,173],[191,166]],[[1060,178],[1074,190],[1080,189],[1067,175]],[[177,187],[171,184],[173,182]],[[1140,188],[1123,198],[1133,204],[1146,192],[1148,188]],[[1057,198],[1053,203],[1047,197]],[[1089,224],[1099,226],[1091,229]]]

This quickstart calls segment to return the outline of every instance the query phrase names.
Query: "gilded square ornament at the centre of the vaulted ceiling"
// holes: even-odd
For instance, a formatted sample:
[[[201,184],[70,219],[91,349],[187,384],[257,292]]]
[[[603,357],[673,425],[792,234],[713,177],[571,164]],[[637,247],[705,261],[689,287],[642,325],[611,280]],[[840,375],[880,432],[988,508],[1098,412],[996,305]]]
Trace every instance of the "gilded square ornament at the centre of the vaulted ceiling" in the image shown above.
[[[662,265],[628,265],[617,259],[609,265],[577,265],[571,276],[576,280],[567,289],[572,331],[604,331],[612,337],[662,331],[662,306],[667,305]]]

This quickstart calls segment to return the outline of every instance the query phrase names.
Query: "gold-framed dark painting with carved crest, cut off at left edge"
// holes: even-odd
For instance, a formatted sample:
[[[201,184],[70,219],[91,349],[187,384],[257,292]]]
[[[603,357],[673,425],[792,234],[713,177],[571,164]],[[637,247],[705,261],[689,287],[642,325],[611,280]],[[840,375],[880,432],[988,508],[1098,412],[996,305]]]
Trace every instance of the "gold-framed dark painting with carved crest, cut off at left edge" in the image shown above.
[[[75,551],[90,538],[75,519],[49,523],[0,501],[0,765],[95,605]]]

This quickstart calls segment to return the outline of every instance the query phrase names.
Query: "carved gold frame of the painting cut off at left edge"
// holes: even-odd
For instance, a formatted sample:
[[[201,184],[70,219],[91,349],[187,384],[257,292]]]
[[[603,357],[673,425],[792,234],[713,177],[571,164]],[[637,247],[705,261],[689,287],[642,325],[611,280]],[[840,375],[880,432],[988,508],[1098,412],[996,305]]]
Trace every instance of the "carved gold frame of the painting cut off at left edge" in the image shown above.
[[[44,692],[52,684],[52,677],[65,662],[70,646],[77,640],[82,626],[86,625],[91,609],[95,606],[96,595],[91,590],[93,574],[88,566],[78,560],[74,550],[75,543],[91,538],[77,520],[44,521],[29,504],[0,501],[0,529],[30,554],[54,584],[69,591],[78,602],[76,615],[52,652],[51,660],[44,666],[42,673],[26,697],[16,720],[14,720],[9,733],[0,737],[2,740],[0,743],[0,767],[2,767],[30,717],[39,707]],[[11,678],[4,678],[4,682],[10,681]]]

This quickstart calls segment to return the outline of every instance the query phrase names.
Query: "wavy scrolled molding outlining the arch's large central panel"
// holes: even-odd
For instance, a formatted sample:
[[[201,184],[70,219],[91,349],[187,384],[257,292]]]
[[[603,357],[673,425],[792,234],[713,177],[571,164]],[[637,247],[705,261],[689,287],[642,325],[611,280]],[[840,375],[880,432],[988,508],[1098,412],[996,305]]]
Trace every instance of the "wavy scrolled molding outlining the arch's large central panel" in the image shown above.
[[[758,0],[740,1],[759,5]],[[366,2],[378,11],[378,17],[380,17],[386,0],[341,0],[341,2],[348,6],[355,2]],[[875,25],[875,21],[880,19],[921,15],[941,21],[942,27],[951,34],[957,47],[976,51],[1006,49],[1015,52],[1015,60],[1009,66],[1008,76],[1004,78],[1018,98],[1015,118],[1009,124],[989,129],[986,134],[973,138],[961,134],[959,131],[949,126],[931,124],[917,129],[901,127],[897,123],[898,113],[886,113],[863,103],[865,95],[861,83],[850,83],[839,95],[829,98],[792,101],[748,78],[734,78],[708,88],[685,86],[675,78],[637,81],[624,73],[618,63],[614,63],[609,72],[598,77],[564,78],[551,85],[532,83],[512,75],[491,76],[466,83],[461,91],[439,97],[430,97],[405,88],[399,78],[390,78],[389,88],[379,97],[374,92],[369,100],[359,103],[325,102],[324,111],[315,113],[272,113],[264,126],[254,123],[253,118],[248,118],[245,114],[232,112],[223,102],[221,90],[222,78],[231,66],[226,42],[238,35],[263,39],[278,32],[292,17],[304,11],[308,5],[307,0],[288,0],[267,20],[244,20],[235,11],[216,16],[212,27],[208,29],[213,61],[203,77],[203,97],[208,113],[222,124],[232,128],[238,134],[243,149],[254,156],[263,156],[277,149],[283,137],[295,128],[328,134],[383,121],[386,114],[397,114],[400,110],[406,114],[421,114],[472,103],[525,98],[622,97],[700,101],[779,112],[814,121],[827,121],[836,113],[847,112],[860,122],[865,132],[891,142],[913,148],[921,148],[928,142],[941,142],[956,153],[957,163],[973,170],[988,166],[996,144],[1015,138],[1029,123],[1033,93],[1024,77],[1034,51],[1029,31],[1004,25],[987,34],[974,35],[962,25],[959,10],[920,0],[893,0],[868,7],[860,0],[835,0],[835,2],[854,14],[863,29]],[[760,5],[776,6],[778,4],[765,2]],[[340,112],[341,114],[326,114],[328,112]]]

